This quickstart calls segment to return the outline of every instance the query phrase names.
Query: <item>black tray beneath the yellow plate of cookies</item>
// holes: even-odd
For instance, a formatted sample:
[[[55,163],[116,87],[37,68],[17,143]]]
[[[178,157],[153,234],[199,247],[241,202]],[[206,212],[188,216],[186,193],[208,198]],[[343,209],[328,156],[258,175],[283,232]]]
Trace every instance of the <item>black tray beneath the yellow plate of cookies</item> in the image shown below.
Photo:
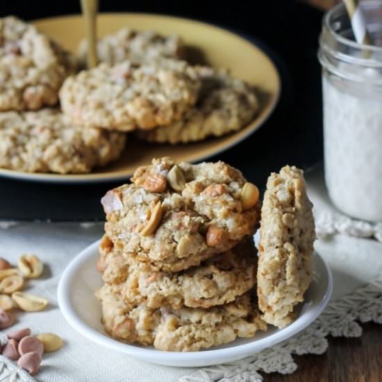
[[[78,3],[7,2],[1,7],[1,17],[14,14],[36,19],[79,13]],[[281,74],[279,105],[251,137],[210,159],[221,159],[238,167],[257,185],[265,185],[268,174],[287,163],[304,169],[319,163],[322,160],[322,97],[316,54],[322,13],[293,0],[197,4],[109,0],[101,1],[100,9],[201,19],[254,41],[274,60]],[[0,178],[0,219],[103,220],[99,199],[115,186],[116,183],[53,185]]]

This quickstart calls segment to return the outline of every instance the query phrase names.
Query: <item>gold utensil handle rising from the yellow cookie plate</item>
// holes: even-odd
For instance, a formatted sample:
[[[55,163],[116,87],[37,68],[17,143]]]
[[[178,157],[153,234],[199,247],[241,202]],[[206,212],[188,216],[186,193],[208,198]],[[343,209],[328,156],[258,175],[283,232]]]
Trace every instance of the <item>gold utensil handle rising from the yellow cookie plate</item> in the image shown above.
[[[88,38],[88,67],[95,67],[97,56],[97,11],[98,0],[81,0],[81,8],[85,17],[86,35]]]

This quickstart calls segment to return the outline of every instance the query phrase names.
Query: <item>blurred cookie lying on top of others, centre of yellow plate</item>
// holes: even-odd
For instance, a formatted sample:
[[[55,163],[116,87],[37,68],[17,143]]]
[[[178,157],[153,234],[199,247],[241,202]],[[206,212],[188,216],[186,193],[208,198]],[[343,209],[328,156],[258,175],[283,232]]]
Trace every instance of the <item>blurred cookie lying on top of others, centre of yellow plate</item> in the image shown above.
[[[199,85],[185,61],[102,63],[67,78],[60,101],[77,124],[131,131],[180,119],[195,103]]]

